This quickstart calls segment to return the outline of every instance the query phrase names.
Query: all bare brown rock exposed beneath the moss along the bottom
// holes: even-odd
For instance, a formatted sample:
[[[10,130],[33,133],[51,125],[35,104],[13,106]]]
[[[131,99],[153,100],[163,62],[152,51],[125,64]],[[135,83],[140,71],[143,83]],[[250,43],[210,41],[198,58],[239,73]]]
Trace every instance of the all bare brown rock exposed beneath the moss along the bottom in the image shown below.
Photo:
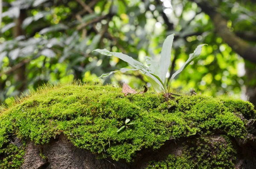
[[[207,137],[213,143],[226,144],[226,140],[218,135]],[[143,149],[131,163],[115,161],[110,158],[97,159],[87,150],[78,149],[70,143],[64,135],[52,139],[50,143],[35,145],[32,141],[27,143],[24,163],[20,169],[146,169],[150,161],[165,160],[169,155],[180,156],[184,146],[190,146],[193,138],[181,138],[166,143],[155,151]],[[196,140],[196,137],[195,137]],[[237,147],[235,169],[256,169],[256,149],[249,143]],[[218,152],[213,152],[218,153]],[[224,167],[225,168],[225,167]],[[157,168],[160,169],[160,168]]]

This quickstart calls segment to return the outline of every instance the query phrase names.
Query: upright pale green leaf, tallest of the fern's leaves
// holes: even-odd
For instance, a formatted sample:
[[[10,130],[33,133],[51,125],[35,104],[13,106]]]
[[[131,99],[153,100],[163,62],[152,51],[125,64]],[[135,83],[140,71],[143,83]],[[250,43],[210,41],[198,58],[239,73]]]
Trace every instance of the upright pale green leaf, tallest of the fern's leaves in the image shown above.
[[[163,83],[166,80],[166,74],[171,64],[173,38],[174,38],[174,34],[171,34],[168,37],[166,37],[166,40],[163,42],[161,58],[160,58],[160,79],[162,80]]]

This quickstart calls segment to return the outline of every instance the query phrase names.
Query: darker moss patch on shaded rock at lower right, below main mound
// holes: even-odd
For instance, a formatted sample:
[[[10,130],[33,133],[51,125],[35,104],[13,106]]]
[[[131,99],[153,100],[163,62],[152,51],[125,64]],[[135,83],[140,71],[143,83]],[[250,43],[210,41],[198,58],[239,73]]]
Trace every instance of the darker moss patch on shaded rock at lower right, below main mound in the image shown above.
[[[232,169],[236,151],[226,136],[200,137],[184,143],[180,156],[151,161],[147,169]]]

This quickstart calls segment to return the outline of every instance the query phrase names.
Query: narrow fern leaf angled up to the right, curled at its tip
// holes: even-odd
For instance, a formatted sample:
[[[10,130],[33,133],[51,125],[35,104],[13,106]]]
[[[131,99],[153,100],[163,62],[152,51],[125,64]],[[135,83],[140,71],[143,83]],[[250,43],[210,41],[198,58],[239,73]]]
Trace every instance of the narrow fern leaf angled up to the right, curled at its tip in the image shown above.
[[[202,47],[204,45],[207,45],[207,44],[202,44],[202,45],[199,45],[194,53],[192,54],[189,54],[189,59],[181,66],[181,68],[179,70],[177,70],[177,72],[175,72],[174,74],[172,74],[172,77],[171,77],[171,81],[170,81],[170,84],[172,83],[172,80],[175,78],[175,76],[177,76],[177,74],[179,74],[180,72],[182,72],[186,66],[189,65],[189,63],[191,63],[193,60],[195,60],[196,58],[199,57],[199,55],[201,54],[201,51],[202,51]]]

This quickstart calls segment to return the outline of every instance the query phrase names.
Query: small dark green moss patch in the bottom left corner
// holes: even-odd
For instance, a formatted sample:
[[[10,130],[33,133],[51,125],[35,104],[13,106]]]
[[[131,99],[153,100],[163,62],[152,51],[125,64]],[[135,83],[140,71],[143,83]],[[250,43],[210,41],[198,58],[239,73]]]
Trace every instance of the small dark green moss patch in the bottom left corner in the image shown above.
[[[2,146],[0,149],[0,168],[1,169],[18,169],[23,163],[23,156],[25,155],[26,144],[20,147],[13,143]]]

